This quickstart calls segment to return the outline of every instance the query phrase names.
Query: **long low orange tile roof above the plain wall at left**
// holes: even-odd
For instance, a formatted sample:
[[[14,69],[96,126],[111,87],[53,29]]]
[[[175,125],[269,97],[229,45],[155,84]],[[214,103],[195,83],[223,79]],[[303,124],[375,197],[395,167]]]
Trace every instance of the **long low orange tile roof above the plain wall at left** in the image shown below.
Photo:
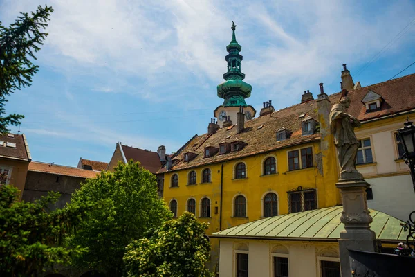
[[[82,168],[73,168],[70,166],[51,165],[50,163],[41,163],[39,161],[32,161],[29,163],[28,171],[44,172],[56,175],[65,175],[80,178],[96,178],[100,173],[94,170],[85,170]]]

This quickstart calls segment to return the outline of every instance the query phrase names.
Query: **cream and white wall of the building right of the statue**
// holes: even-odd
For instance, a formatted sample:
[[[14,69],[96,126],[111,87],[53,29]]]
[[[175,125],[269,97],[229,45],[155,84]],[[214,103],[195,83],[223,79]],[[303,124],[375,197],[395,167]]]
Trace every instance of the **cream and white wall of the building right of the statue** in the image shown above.
[[[410,211],[415,209],[415,192],[409,168],[398,159],[395,132],[403,127],[406,118],[396,118],[388,124],[355,129],[358,139],[371,139],[374,163],[356,168],[371,185],[374,199],[368,200],[369,208],[382,211],[406,222]]]

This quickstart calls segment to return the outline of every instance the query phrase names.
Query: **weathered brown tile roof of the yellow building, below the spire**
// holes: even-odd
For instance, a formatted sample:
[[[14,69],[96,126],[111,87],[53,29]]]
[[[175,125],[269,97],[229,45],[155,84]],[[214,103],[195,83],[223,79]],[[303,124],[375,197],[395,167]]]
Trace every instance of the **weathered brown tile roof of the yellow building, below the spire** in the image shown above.
[[[305,114],[305,116],[299,117]],[[187,143],[183,151],[175,158],[179,161],[172,166],[172,170],[179,170],[183,168],[192,168],[208,163],[218,163],[221,161],[228,161],[231,159],[239,159],[261,152],[269,152],[279,148],[285,148],[291,145],[320,140],[320,134],[311,134],[302,136],[302,120],[310,116],[317,120],[317,103],[315,101],[305,102],[299,105],[281,109],[268,114],[254,118],[245,123],[243,132],[237,134],[237,128],[221,128],[214,134],[202,134],[195,136],[192,141]],[[259,126],[261,129],[258,129]],[[277,141],[276,132],[280,127],[285,127],[293,132],[289,139],[285,141]],[[243,141],[247,143],[246,146],[239,151],[228,152],[227,154],[215,154],[214,157],[204,158],[203,151],[205,147],[215,146],[219,148],[219,143],[234,141]],[[191,161],[185,162],[183,155],[186,152],[196,153],[197,156]],[[165,172],[165,168],[158,171]]]

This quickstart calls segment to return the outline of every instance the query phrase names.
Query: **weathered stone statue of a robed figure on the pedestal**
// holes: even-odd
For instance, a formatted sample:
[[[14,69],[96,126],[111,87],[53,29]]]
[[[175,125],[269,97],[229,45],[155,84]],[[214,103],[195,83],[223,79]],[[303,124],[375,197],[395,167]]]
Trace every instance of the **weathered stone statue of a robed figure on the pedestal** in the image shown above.
[[[362,175],[355,166],[359,141],[354,133],[354,127],[360,127],[362,123],[354,116],[347,114],[349,105],[350,99],[347,91],[343,90],[340,102],[331,108],[330,128],[338,150],[340,179],[362,179]]]

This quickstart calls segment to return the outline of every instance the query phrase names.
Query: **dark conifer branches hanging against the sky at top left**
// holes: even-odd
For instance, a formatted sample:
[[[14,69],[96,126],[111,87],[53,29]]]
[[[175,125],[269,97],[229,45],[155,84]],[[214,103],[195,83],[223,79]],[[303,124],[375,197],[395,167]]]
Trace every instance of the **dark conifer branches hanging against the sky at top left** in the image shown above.
[[[39,69],[33,64],[35,53],[48,36],[42,30],[48,26],[52,7],[39,6],[36,12],[21,12],[17,20],[5,27],[0,21],[0,134],[8,132],[8,125],[19,125],[24,116],[5,114],[6,96],[21,87],[32,84],[32,77]]]

